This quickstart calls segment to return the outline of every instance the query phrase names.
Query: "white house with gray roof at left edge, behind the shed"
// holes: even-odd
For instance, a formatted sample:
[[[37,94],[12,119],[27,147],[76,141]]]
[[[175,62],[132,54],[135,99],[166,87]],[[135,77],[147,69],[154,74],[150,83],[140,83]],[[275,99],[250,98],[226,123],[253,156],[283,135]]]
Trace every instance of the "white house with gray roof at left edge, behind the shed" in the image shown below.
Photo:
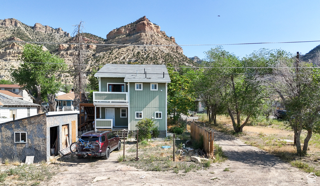
[[[0,123],[10,121],[15,115],[16,119],[37,114],[37,105],[29,101],[21,100],[4,93],[0,93]]]

